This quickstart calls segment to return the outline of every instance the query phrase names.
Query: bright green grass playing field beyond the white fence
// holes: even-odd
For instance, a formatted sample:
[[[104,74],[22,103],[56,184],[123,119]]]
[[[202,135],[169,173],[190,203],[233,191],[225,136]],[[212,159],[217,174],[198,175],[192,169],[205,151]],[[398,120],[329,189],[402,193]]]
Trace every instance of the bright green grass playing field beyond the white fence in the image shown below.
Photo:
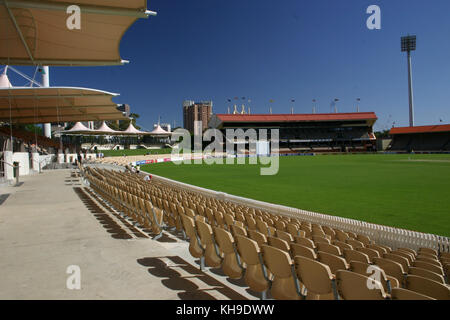
[[[450,236],[450,155],[280,157],[274,176],[248,164],[142,169],[229,194]]]

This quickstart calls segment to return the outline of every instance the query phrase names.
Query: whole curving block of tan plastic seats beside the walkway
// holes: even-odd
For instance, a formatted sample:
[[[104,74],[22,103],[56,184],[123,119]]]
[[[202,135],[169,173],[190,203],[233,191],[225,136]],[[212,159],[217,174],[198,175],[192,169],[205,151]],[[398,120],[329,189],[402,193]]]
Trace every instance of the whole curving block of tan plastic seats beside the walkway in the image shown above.
[[[392,250],[364,235],[272,214],[141,176],[86,168],[94,191],[159,237],[175,229],[200,266],[261,298],[450,299],[450,254]],[[373,276],[373,275],[376,275]],[[372,287],[368,286],[372,283]]]

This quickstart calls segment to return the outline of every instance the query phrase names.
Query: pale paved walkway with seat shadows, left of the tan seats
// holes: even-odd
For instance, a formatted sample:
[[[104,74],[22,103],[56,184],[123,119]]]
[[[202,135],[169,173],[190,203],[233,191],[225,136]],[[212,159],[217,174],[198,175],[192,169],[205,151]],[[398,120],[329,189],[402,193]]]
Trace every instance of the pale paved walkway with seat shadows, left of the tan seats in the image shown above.
[[[0,187],[0,299],[256,298],[242,280],[199,272],[179,236],[155,241],[133,229],[71,172]],[[67,288],[71,265],[80,268],[80,290]]]

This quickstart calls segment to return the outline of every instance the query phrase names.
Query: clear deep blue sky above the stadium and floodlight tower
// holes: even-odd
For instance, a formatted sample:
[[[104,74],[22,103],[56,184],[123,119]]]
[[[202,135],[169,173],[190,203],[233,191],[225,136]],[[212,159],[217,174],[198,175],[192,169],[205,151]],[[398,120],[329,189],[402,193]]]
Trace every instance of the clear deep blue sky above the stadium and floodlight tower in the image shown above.
[[[381,8],[381,30],[368,30],[366,9]],[[450,123],[448,0],[152,0],[156,17],[125,34],[118,67],[51,68],[51,85],[120,93],[138,124],[182,125],[182,101],[251,99],[252,113],[356,110],[378,115],[375,129],[408,125],[406,56],[400,37],[417,35],[413,53],[416,125]],[[29,68],[20,68],[28,74]],[[10,74],[13,85],[23,80]],[[241,100],[242,101],[242,100]],[[239,101],[241,103],[241,101]]]

